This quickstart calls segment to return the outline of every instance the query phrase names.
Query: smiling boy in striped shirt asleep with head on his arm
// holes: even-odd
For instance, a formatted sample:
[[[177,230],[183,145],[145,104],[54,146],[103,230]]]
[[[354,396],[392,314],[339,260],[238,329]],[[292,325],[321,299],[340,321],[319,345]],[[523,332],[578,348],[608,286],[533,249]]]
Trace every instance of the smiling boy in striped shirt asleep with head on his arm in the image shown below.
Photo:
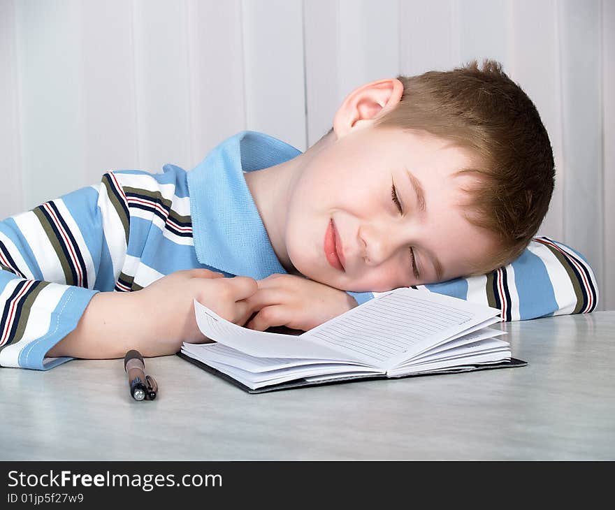
[[[533,316],[569,313],[524,252],[553,186],[540,116],[499,64],[371,82],[303,154],[244,131],[189,173],[108,173],[3,221],[0,365],[173,354],[205,341],[193,299],[248,328],[307,330],[370,291],[448,281],[430,290],[456,295],[514,261],[516,289],[549,303]],[[592,289],[578,311],[593,307]]]

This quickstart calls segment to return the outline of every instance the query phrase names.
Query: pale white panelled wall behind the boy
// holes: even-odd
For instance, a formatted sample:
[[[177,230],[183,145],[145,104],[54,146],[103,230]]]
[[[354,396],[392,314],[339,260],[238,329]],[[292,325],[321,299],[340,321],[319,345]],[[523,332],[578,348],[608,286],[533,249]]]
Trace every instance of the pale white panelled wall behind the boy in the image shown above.
[[[0,217],[243,129],[305,150],[354,87],[489,57],[554,147],[540,233],[615,309],[614,34],[608,0],[0,0]]]

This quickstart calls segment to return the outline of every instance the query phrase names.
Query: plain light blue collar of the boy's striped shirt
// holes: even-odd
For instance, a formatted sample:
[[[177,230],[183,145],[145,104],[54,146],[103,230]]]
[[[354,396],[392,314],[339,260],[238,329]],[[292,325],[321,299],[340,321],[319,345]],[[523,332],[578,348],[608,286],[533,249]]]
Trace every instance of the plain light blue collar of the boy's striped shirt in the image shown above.
[[[249,192],[243,172],[283,163],[301,151],[263,133],[242,131],[188,173],[196,258],[231,275],[262,279],[287,272]]]

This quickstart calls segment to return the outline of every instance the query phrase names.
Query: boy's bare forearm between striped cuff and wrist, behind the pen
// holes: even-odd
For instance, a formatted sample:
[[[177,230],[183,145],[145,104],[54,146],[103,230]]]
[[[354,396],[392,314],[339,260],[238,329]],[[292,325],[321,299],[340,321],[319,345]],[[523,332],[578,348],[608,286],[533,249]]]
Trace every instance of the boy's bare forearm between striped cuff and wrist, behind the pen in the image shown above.
[[[97,293],[77,327],[55,344],[47,356],[122,358],[130,349],[138,349],[144,356],[151,355],[156,338],[153,323],[146,314],[136,293]]]

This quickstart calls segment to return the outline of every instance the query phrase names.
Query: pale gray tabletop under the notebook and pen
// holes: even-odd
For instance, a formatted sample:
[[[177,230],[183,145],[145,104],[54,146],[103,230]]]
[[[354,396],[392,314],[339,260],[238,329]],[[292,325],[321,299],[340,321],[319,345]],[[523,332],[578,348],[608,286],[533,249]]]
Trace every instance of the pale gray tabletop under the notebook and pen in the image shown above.
[[[249,395],[178,356],[0,369],[0,460],[613,460],[615,312],[502,324],[528,366]]]

